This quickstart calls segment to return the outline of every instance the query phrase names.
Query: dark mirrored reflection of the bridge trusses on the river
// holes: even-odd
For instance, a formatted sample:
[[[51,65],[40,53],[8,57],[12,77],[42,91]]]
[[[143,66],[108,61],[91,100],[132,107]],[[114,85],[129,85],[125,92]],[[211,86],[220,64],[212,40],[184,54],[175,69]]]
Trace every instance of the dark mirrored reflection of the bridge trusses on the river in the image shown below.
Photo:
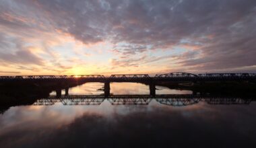
[[[63,105],[100,105],[108,100],[112,105],[148,105],[152,100],[168,106],[189,106],[199,102],[207,104],[250,104],[256,101],[254,98],[232,98],[199,95],[111,95],[105,98],[103,95],[90,96],[49,96],[40,98],[34,102],[35,106],[48,106],[61,102]]]

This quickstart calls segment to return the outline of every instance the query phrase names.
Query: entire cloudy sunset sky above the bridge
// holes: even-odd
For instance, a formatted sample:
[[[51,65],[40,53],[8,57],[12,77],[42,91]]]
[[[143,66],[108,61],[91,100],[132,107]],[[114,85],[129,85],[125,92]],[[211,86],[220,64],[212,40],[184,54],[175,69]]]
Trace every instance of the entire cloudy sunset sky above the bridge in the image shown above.
[[[256,72],[255,0],[0,0],[0,75]]]

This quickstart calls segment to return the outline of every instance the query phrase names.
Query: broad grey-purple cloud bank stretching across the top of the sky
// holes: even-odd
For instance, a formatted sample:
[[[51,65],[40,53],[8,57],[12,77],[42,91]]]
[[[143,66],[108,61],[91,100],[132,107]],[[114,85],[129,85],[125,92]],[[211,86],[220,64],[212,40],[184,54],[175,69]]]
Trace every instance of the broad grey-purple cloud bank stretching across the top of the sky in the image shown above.
[[[256,1],[252,0],[28,0],[2,1],[0,6],[0,25],[5,28],[58,30],[84,44],[111,42],[119,55],[112,57],[114,65],[131,55],[143,57],[151,50],[175,46],[197,50],[192,59],[176,59],[176,66],[189,70],[256,65]]]

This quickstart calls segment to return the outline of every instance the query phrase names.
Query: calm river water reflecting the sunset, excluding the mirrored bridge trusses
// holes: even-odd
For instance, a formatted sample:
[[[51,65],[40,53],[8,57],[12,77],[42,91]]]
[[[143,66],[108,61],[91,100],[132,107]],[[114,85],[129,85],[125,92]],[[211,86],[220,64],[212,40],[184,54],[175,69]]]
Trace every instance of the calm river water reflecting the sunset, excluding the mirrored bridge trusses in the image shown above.
[[[85,83],[69,95],[103,94]],[[110,94],[149,94],[148,85],[111,83]],[[191,91],[156,87],[156,94]],[[63,91],[63,94],[65,91]],[[55,95],[53,91],[51,95]],[[256,147],[256,104],[15,106],[0,114],[0,147]]]

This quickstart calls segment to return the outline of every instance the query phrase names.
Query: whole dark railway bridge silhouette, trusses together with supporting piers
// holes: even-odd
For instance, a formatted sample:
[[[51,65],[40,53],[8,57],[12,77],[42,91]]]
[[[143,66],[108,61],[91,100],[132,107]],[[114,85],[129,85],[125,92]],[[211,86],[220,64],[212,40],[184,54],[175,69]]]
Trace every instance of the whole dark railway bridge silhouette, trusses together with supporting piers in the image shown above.
[[[148,74],[123,74],[123,75],[18,75],[0,76],[0,83],[35,82],[35,83],[69,83],[70,81],[100,82],[104,83],[104,96],[110,95],[110,83],[133,82],[147,83],[150,87],[150,95],[156,96],[156,83],[179,81],[256,81],[256,73],[205,73],[195,75],[193,73],[165,73],[150,77]],[[65,89],[68,94],[68,87]],[[57,96],[61,96],[61,89],[57,90]]]

